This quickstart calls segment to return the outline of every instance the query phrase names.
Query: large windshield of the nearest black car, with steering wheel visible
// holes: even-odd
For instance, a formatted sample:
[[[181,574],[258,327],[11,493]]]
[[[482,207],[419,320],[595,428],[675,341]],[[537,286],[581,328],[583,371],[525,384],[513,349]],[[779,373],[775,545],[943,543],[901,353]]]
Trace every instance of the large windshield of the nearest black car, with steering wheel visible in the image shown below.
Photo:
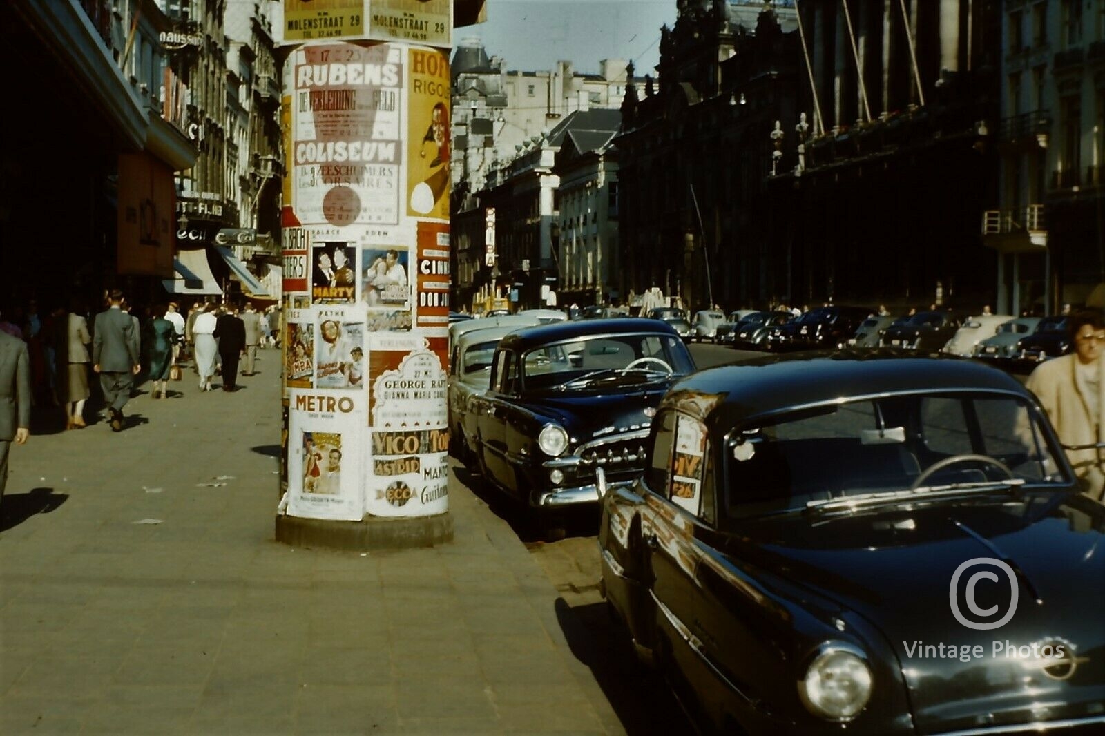
[[[898,395],[777,414],[730,435],[728,513],[756,516],[915,486],[982,492],[1010,477],[1067,483],[1036,417],[1021,397],[983,392]]]

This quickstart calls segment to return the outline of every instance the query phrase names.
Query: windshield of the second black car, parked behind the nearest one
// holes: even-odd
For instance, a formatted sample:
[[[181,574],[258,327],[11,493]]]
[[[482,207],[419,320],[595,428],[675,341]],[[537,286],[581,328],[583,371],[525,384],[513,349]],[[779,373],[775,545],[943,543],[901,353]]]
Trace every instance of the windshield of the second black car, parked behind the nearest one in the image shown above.
[[[671,335],[593,335],[534,348],[523,358],[526,389],[642,382],[694,370],[683,340]]]

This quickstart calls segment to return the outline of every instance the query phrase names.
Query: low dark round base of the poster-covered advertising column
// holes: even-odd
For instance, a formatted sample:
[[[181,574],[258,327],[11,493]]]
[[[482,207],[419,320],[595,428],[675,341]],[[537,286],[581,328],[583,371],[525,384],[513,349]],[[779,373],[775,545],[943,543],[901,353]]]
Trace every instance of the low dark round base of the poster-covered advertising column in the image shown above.
[[[445,514],[361,522],[334,522],[280,515],[276,542],[295,547],[328,547],[352,551],[433,547],[453,539],[453,519]]]

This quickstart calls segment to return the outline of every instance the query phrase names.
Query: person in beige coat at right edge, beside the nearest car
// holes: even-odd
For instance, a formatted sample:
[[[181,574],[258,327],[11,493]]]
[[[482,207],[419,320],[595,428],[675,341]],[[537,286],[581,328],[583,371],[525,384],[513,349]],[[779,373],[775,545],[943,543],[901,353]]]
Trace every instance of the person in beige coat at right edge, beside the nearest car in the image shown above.
[[[1041,364],[1028,388],[1043,404],[1065,445],[1105,443],[1105,316],[1084,311],[1067,317],[1074,353]],[[1105,449],[1067,450],[1083,493],[1102,501]]]

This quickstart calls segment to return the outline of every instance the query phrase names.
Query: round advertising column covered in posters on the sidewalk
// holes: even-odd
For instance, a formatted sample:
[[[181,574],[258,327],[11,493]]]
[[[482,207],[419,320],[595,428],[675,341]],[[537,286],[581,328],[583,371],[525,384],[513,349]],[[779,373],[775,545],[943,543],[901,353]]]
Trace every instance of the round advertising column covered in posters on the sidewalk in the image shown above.
[[[448,2],[366,2],[364,15],[344,2],[322,23],[306,12],[314,3],[299,4],[285,38],[293,25],[314,38],[367,27],[449,43],[448,30],[434,36]],[[277,539],[449,539],[448,56],[402,41],[306,41],[286,61],[285,91]]]

